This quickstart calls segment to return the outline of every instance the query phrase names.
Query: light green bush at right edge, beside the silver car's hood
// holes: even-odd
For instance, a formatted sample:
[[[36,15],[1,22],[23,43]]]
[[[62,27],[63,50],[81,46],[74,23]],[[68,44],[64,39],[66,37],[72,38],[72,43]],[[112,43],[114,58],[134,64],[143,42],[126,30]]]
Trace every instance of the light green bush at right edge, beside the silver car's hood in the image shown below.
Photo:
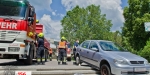
[[[146,58],[150,62],[150,40],[146,42],[146,46],[138,52],[138,55]]]

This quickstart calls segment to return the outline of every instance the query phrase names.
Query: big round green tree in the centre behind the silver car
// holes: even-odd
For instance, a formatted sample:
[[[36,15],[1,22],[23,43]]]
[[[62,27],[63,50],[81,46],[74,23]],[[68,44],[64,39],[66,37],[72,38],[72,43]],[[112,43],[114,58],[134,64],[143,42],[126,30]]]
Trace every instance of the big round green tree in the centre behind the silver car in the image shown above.
[[[76,6],[68,11],[61,20],[61,36],[65,36],[73,42],[76,38],[80,41],[88,39],[109,39],[109,32],[112,26],[111,20],[101,14],[100,6],[90,5],[86,8]]]

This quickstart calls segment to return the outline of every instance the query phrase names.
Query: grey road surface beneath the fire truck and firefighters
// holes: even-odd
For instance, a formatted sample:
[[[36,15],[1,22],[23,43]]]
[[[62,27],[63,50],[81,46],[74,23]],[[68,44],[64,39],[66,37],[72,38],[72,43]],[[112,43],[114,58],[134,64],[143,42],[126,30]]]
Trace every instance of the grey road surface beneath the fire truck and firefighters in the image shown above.
[[[73,62],[67,62],[67,65],[58,65],[57,60],[48,61],[45,65],[24,65],[23,62],[17,62],[15,59],[0,59],[0,71],[4,71],[4,67],[11,65],[16,66],[18,70],[32,71],[32,75],[74,75],[80,73],[81,75],[99,75],[97,70],[89,67],[87,64],[82,66],[74,65]],[[1,72],[0,72],[1,75]]]

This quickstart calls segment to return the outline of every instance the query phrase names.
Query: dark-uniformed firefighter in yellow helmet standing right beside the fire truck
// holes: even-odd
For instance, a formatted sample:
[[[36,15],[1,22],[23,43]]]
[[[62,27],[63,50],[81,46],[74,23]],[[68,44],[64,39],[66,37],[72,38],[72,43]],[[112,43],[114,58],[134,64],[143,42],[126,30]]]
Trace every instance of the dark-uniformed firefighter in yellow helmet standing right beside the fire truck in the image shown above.
[[[39,33],[38,34],[38,50],[37,50],[37,64],[42,63],[45,64],[45,58],[44,58],[44,34]]]

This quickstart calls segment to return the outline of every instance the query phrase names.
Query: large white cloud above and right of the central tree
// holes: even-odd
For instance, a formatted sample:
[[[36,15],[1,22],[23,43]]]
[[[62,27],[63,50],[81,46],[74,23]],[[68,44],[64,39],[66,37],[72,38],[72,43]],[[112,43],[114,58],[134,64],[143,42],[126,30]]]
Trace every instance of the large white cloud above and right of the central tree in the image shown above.
[[[121,26],[124,22],[122,15],[123,10],[121,0],[62,0],[62,4],[66,7],[66,10],[71,10],[76,5],[86,7],[91,4],[100,5],[102,14],[106,14],[106,18],[112,20],[112,31],[121,30]]]

